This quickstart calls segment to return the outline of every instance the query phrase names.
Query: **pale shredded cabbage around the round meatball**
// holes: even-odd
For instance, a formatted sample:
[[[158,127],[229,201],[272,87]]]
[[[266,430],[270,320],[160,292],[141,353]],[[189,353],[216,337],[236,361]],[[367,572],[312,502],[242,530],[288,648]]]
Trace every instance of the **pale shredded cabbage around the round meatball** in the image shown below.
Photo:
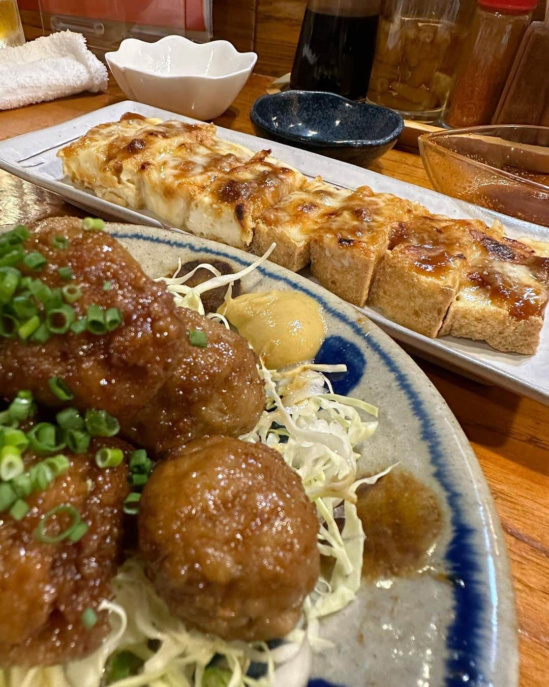
[[[187,275],[161,278],[174,293],[178,306],[205,314],[201,295],[228,285],[265,262],[274,248],[255,263],[232,275],[221,275],[210,264],[200,264]],[[181,262],[178,264],[180,270]],[[185,282],[198,269],[213,277],[193,288]],[[159,280],[157,280],[159,281]],[[209,313],[229,328],[223,315]],[[305,363],[289,370],[267,370],[259,374],[267,392],[266,407],[253,431],[242,436],[249,442],[264,442],[279,451],[294,469],[310,499],[316,505],[320,531],[318,549],[334,559],[329,574],[322,574],[314,592],[305,600],[303,617],[274,649],[258,642],[225,642],[220,638],[187,630],[174,618],[143,574],[137,558],[128,559],[113,581],[115,599],[104,601],[113,630],[84,660],[48,668],[10,668],[0,671],[0,687],[100,687],[105,684],[108,658],[119,651],[131,651],[143,661],[138,675],[110,683],[113,687],[285,687],[305,684],[307,652],[324,651],[332,644],[320,636],[319,618],[340,611],[355,598],[360,587],[364,532],[355,508],[360,484],[373,484],[391,468],[372,477],[358,479],[358,444],[377,427],[377,408],[358,398],[334,394],[325,373],[345,372],[344,365]],[[369,416],[363,418],[362,414]],[[336,515],[344,513],[344,526]],[[156,646],[151,648],[151,640]],[[303,659],[305,656],[305,659]],[[293,662],[293,663],[292,663]],[[298,663],[300,662],[299,666]],[[250,664],[262,664],[261,677],[250,677]],[[275,676],[279,666],[279,679]],[[305,668],[303,667],[305,666]]]

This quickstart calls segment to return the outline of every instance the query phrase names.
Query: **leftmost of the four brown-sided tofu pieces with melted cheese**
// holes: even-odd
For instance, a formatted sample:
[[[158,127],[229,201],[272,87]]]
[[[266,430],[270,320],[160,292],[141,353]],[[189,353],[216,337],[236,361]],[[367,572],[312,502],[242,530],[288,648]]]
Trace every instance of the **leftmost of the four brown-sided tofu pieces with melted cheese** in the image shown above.
[[[257,220],[251,245],[253,252],[263,255],[274,241],[277,246],[269,260],[299,271],[309,264],[311,240],[322,231],[324,211],[337,207],[348,195],[348,190],[331,186],[320,177],[308,181]]]

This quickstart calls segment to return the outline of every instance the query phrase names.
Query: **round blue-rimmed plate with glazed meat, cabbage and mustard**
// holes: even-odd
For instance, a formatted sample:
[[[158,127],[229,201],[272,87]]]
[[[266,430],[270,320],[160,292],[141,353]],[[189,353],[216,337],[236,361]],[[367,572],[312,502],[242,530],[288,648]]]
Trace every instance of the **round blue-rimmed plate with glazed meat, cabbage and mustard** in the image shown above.
[[[93,218],[0,234],[1,684],[517,684],[455,418],[267,257]]]

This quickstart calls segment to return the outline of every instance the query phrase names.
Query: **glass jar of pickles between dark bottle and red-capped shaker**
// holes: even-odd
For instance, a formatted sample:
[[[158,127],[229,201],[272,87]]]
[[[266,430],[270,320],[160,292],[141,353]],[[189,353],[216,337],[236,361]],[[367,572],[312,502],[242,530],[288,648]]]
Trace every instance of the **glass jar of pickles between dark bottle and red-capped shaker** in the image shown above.
[[[471,0],[385,0],[368,99],[406,119],[439,119]]]

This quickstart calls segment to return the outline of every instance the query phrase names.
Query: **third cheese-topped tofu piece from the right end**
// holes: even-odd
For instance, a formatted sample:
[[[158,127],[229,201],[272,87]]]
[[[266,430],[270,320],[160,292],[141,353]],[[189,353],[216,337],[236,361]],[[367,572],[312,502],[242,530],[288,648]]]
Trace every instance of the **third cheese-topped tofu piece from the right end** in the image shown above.
[[[411,201],[361,186],[319,217],[310,247],[313,275],[332,293],[364,306],[391,229],[420,210],[425,211]]]

